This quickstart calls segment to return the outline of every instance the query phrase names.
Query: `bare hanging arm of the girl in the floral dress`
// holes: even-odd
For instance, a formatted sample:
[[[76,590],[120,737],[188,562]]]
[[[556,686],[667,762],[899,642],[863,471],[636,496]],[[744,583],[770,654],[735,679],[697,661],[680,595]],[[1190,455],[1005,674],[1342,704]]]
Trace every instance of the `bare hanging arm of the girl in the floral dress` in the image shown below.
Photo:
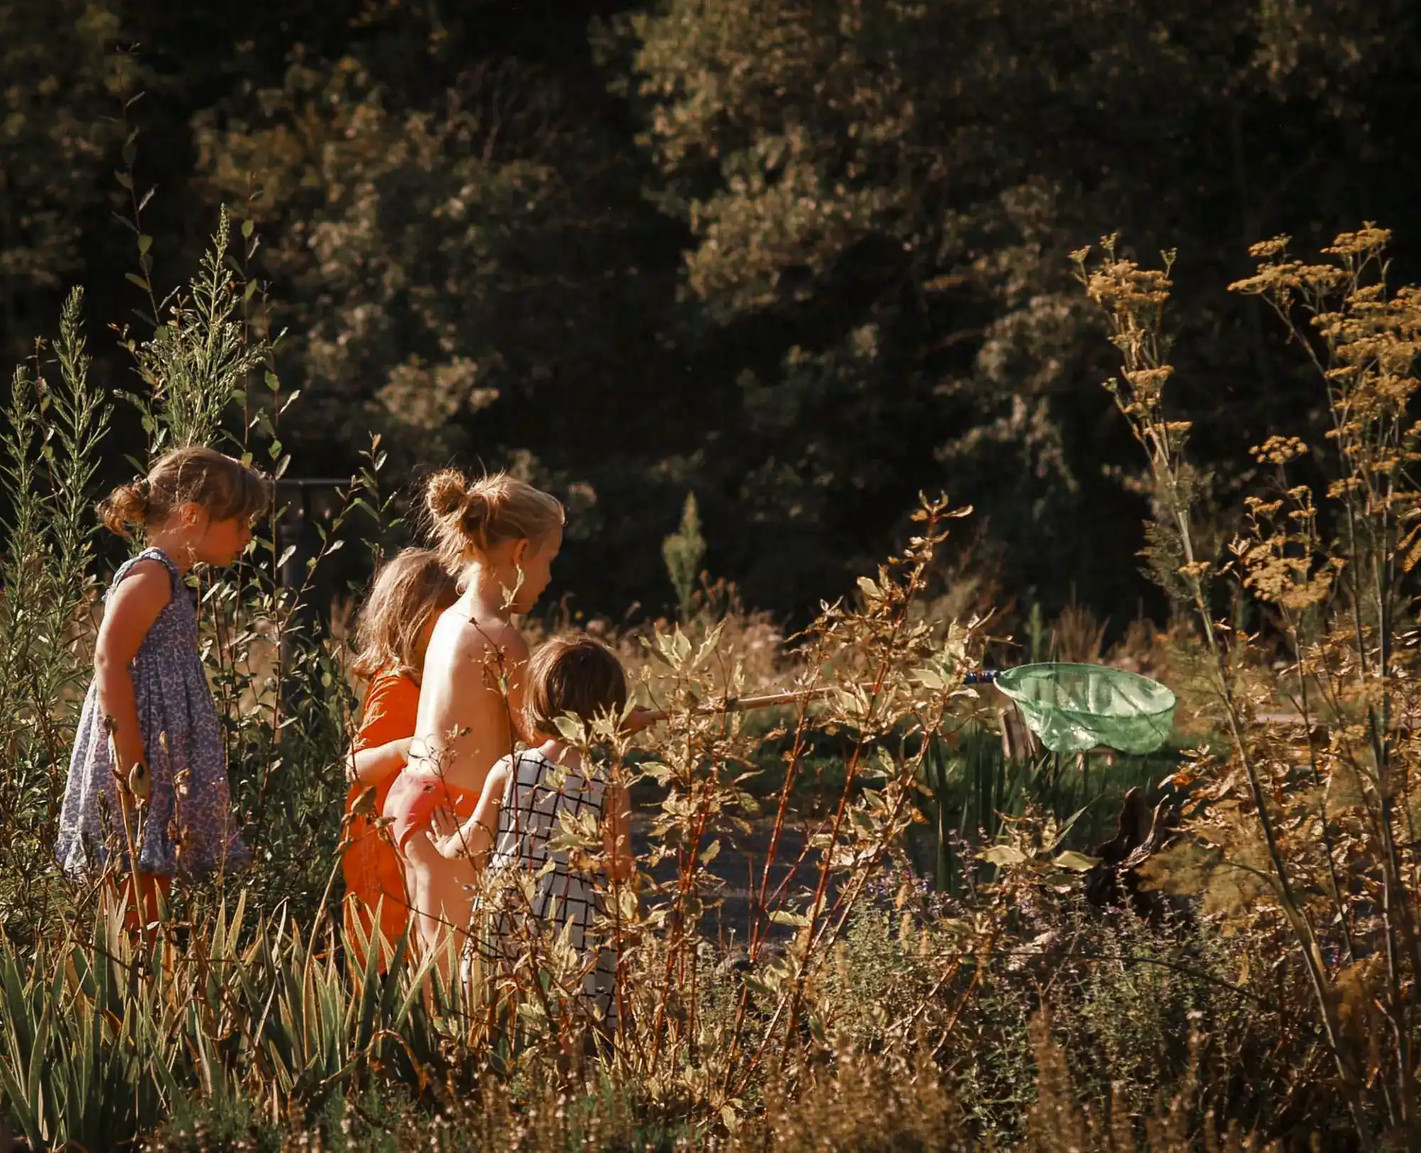
[[[98,708],[101,717],[114,722],[114,748],[118,752],[115,768],[125,776],[134,765],[148,763],[144,734],[138,728],[138,704],[129,665],[172,596],[168,570],[156,560],[141,560],[109,593],[98,628],[94,645]]]

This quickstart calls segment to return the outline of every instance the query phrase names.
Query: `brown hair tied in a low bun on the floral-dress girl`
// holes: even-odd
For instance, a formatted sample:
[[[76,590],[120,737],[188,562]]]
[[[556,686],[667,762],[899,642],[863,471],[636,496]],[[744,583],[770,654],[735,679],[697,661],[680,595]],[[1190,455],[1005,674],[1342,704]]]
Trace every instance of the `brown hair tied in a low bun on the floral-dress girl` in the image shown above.
[[[200,505],[212,520],[250,520],[271,503],[271,482],[213,448],[175,448],[148,476],[114,489],[98,515],[109,532],[131,536],[136,527],[165,525],[189,503]]]

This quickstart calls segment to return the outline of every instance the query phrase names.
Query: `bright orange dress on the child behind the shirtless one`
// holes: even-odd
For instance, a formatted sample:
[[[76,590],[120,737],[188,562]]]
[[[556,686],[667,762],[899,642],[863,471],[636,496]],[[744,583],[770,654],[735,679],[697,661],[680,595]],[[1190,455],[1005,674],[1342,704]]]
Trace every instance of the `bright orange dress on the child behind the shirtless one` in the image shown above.
[[[365,692],[355,751],[414,736],[418,712],[419,685],[391,670],[375,674]],[[360,947],[360,934],[352,931],[357,917],[364,935],[369,937],[378,906],[381,933],[392,947],[404,935],[409,920],[405,870],[391,844],[389,833],[375,825],[377,817],[385,810],[389,786],[398,776],[399,769],[395,769],[375,782],[371,799],[374,805],[369,802],[361,805],[361,812],[351,816],[347,829],[345,857],[341,862],[345,874],[345,948],[360,968],[364,968],[365,958]],[[369,789],[369,785],[352,785],[345,798],[345,812],[350,813]]]

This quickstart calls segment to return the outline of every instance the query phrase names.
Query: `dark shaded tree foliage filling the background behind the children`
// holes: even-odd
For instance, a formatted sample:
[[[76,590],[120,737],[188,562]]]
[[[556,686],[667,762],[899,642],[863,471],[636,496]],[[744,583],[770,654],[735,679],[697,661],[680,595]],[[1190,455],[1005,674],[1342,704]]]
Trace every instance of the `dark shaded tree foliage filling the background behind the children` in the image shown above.
[[[1403,0],[18,0],[0,34],[7,350],[71,281],[139,323],[109,210],[141,90],[155,281],[219,202],[254,222],[297,471],[369,429],[406,479],[519,469],[574,509],[585,610],[671,607],[688,492],[706,566],[799,613],[945,489],[1007,589],[1123,624],[1145,508],[1067,254],[1178,250],[1226,522],[1225,462],[1320,419],[1221,290],[1248,243],[1376,219],[1410,272],[1421,237]]]

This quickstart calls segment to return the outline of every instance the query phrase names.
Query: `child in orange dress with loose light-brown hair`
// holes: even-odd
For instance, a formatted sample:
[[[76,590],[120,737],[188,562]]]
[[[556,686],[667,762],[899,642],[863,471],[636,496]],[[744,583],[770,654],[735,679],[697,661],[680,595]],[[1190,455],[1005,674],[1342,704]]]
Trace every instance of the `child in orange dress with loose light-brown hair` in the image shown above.
[[[409,921],[404,863],[377,822],[389,786],[409,759],[429,636],[439,614],[456,599],[455,580],[438,554],[405,549],[379,570],[357,627],[360,655],[354,668],[369,688],[345,762],[351,789],[341,867],[345,948],[361,970],[362,943],[374,940],[377,910],[387,947],[394,947]]]

